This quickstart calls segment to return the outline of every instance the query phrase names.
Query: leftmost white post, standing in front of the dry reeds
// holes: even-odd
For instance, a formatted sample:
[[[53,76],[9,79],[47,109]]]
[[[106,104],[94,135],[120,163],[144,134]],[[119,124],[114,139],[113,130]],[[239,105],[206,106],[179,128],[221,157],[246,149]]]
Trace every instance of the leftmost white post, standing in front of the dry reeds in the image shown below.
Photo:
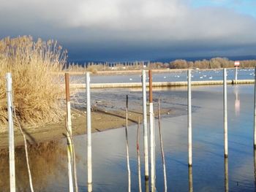
[[[10,162],[10,192],[15,192],[15,144],[12,120],[12,74],[6,74],[7,79],[7,108],[9,128],[9,162]]]

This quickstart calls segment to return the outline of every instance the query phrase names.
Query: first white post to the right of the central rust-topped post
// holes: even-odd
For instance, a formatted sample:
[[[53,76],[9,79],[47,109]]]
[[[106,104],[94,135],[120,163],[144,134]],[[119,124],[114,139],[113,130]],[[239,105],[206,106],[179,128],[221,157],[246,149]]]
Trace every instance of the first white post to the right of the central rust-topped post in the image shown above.
[[[188,150],[189,166],[192,166],[192,118],[191,118],[191,69],[187,70],[187,128],[188,128]]]

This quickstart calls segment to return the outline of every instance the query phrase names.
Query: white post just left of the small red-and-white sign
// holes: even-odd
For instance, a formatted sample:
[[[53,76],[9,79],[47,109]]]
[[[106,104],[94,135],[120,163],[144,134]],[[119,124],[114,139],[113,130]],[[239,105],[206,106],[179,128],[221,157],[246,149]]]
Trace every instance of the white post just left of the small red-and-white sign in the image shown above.
[[[227,70],[223,69],[224,155],[227,158]]]

